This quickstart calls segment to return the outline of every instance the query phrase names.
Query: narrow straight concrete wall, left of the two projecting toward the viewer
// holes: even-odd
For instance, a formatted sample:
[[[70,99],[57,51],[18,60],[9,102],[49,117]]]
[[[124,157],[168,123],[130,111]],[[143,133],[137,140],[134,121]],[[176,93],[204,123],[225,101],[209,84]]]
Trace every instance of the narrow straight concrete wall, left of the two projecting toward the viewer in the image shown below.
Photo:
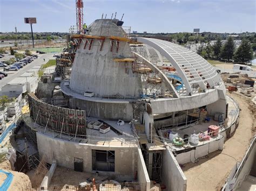
[[[138,148],[138,159],[137,159],[137,179],[138,182],[143,182],[146,185],[146,190],[150,189],[150,178],[147,173],[145,161],[143,159],[142,151]]]

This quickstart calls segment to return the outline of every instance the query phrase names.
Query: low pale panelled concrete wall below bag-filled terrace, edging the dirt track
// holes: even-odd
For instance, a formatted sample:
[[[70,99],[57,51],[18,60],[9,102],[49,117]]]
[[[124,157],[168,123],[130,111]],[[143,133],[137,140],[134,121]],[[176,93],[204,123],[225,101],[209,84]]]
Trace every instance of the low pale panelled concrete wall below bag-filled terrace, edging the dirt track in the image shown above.
[[[204,157],[208,153],[223,150],[224,137],[207,144],[194,147],[193,150],[177,154],[176,160],[179,164],[185,164],[187,162],[195,162],[198,158]]]

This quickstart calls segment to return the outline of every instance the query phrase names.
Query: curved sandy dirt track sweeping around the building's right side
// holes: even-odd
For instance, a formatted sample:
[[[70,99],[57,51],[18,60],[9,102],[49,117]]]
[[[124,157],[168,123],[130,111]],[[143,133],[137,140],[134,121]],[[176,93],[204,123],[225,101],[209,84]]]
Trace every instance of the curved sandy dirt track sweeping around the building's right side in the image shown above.
[[[231,97],[241,109],[238,128],[226,140],[223,151],[213,152],[197,164],[185,164],[183,171],[187,178],[187,190],[220,190],[236,162],[241,161],[250,146],[252,130],[255,130],[254,116],[243,98],[235,94]]]

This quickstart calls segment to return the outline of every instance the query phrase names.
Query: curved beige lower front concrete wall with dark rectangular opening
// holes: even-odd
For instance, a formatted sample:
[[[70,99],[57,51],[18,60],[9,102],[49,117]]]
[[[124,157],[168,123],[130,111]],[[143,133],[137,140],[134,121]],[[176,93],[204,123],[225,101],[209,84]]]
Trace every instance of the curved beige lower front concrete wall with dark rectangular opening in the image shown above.
[[[53,159],[59,166],[73,169],[74,157],[83,159],[83,170],[92,172],[92,150],[115,151],[114,172],[104,172],[107,175],[117,175],[118,179],[132,180],[137,170],[137,147],[109,147],[90,144],[74,143],[63,139],[48,137],[37,132],[37,147],[39,156],[46,154],[46,162],[52,163]]]

